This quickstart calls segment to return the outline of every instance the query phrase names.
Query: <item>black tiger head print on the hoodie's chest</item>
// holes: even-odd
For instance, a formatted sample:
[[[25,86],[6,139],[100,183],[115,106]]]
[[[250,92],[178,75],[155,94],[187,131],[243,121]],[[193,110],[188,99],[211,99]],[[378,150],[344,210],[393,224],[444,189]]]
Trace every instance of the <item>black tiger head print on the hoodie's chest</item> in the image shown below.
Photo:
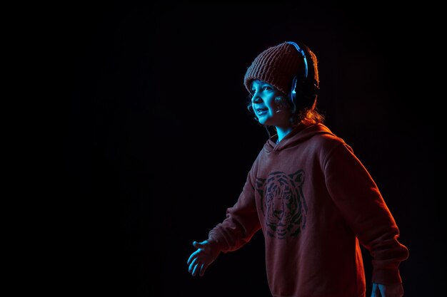
[[[306,226],[307,205],[303,197],[304,172],[271,172],[256,179],[266,233],[277,239],[296,237]]]

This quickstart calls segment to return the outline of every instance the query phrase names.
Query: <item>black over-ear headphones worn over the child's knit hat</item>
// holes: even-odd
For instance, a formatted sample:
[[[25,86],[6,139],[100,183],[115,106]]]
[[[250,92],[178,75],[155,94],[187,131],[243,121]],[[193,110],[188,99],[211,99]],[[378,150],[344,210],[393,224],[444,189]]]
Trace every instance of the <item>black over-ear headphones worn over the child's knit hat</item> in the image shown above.
[[[318,91],[318,80],[315,78],[315,74],[318,73],[316,65],[313,63],[311,50],[303,43],[296,43],[293,41],[287,41],[296,48],[296,51],[303,56],[304,73],[297,73],[293,77],[292,87],[288,97],[293,104],[292,113],[296,112],[297,105],[299,107],[311,107],[316,102]]]

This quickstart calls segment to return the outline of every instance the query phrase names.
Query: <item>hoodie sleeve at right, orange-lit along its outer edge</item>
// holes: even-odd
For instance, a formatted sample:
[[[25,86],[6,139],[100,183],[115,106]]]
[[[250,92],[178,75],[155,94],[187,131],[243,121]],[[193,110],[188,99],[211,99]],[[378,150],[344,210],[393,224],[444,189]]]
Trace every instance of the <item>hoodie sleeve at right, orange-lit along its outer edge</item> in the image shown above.
[[[372,281],[401,283],[398,266],[408,249],[398,241],[398,226],[371,175],[344,142],[326,157],[324,172],[333,202],[371,253]]]

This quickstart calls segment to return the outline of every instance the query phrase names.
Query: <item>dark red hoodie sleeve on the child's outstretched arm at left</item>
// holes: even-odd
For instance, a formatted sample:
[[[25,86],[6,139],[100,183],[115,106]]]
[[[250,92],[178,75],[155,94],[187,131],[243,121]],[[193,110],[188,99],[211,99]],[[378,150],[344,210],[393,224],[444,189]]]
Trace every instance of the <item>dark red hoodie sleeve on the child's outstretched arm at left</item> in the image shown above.
[[[226,209],[226,219],[209,231],[209,239],[216,241],[224,253],[240,249],[261,229],[256,212],[254,187],[248,173],[246,183],[236,204]]]

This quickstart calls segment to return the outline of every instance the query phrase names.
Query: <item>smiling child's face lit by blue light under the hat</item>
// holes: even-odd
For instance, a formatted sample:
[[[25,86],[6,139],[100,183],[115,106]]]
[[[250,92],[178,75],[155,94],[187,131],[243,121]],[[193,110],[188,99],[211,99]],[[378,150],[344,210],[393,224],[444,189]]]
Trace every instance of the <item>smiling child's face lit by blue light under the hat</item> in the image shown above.
[[[262,80],[253,80],[251,107],[261,125],[290,127],[291,108],[288,99]]]

